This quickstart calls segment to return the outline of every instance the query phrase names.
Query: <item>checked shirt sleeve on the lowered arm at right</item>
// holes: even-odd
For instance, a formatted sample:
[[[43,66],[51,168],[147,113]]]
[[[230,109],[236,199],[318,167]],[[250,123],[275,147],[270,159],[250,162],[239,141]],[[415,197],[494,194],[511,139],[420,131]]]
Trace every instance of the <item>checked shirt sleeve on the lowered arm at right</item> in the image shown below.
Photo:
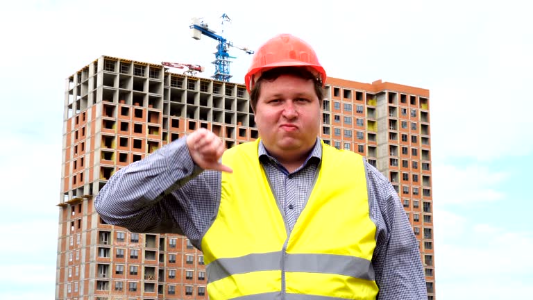
[[[398,194],[378,169],[367,164],[371,217],[377,226],[373,256],[378,300],[427,300],[418,241]]]

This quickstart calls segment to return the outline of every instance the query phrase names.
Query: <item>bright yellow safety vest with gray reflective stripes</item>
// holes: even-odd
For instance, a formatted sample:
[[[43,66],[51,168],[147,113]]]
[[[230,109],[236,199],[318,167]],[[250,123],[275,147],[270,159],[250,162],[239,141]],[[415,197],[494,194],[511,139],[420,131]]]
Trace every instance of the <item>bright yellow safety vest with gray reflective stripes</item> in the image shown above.
[[[212,300],[375,299],[375,224],[362,156],[322,142],[314,188],[291,232],[257,158],[228,149],[217,217],[201,246]]]

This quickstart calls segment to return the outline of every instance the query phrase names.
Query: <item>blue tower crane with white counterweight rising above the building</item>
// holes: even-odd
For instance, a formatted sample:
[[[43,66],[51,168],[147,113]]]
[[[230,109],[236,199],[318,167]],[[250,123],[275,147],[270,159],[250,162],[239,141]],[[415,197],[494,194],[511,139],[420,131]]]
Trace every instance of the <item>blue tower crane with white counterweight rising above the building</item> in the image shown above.
[[[222,15],[222,24],[224,21],[231,21],[228,15]],[[239,47],[233,44],[233,42],[228,41],[222,35],[217,35],[216,31],[209,28],[209,25],[203,22],[202,19],[192,18],[191,25],[189,28],[192,29],[192,38],[194,40],[200,40],[202,35],[206,35],[213,40],[217,40],[219,44],[217,45],[217,52],[214,52],[215,60],[212,62],[214,64],[214,75],[211,76],[218,81],[230,81],[232,75],[230,75],[230,58],[235,58],[230,56],[228,49],[230,47],[237,48],[248,54],[253,54],[254,51],[246,47]]]

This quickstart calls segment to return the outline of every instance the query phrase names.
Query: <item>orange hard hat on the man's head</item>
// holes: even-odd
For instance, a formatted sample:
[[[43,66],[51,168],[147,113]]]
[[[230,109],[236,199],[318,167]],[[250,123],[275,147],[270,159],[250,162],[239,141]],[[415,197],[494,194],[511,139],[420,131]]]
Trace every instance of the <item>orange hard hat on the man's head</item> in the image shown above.
[[[276,67],[306,67],[325,85],[325,70],[310,44],[294,35],[283,33],[262,44],[255,52],[252,65],[244,76],[246,90],[251,92],[262,72]]]

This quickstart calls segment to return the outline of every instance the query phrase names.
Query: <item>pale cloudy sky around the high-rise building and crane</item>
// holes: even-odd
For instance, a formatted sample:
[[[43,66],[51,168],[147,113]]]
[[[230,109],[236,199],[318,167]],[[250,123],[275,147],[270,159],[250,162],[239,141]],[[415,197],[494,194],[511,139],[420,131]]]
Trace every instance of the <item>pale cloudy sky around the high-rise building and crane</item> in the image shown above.
[[[347,3],[350,3],[347,6]],[[236,45],[278,33],[328,76],[430,90],[439,300],[533,294],[533,18],[527,1],[4,1],[0,9],[0,299],[53,299],[65,80],[101,55],[214,72],[204,17]],[[217,27],[218,26],[218,27]],[[243,83],[251,56],[236,56]]]

